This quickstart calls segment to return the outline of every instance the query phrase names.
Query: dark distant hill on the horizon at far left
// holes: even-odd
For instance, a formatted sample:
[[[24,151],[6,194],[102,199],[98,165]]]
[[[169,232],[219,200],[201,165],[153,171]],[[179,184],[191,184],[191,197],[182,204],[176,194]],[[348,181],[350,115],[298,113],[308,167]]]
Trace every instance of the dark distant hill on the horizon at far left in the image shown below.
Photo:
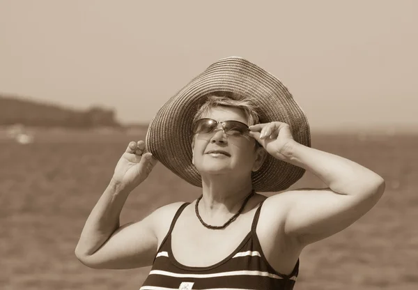
[[[76,110],[17,96],[0,95],[0,125],[16,123],[36,127],[121,127],[113,109],[91,107]]]

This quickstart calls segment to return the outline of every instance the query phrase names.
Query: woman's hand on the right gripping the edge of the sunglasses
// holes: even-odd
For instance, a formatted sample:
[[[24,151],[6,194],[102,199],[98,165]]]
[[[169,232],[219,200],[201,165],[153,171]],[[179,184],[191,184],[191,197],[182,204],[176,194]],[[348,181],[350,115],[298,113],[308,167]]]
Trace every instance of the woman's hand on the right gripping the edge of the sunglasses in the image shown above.
[[[286,160],[292,148],[297,144],[288,124],[279,121],[249,126],[249,135],[256,139],[270,155]]]

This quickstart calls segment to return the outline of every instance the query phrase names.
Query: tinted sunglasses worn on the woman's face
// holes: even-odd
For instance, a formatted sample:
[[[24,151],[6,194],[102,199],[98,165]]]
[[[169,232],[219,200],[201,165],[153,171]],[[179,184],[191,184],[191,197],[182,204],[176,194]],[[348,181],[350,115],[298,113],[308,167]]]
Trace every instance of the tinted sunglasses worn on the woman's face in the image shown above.
[[[244,136],[249,137],[248,125],[239,121],[223,121],[217,122],[214,119],[203,118],[197,120],[193,124],[193,134],[210,134],[218,131],[218,124],[222,124],[222,130],[226,135],[229,136]]]

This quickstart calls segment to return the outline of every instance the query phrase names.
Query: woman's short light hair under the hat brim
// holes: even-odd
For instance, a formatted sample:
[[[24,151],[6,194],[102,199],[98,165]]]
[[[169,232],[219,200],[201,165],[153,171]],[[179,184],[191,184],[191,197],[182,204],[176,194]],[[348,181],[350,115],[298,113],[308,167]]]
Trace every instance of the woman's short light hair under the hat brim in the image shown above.
[[[256,107],[251,102],[245,100],[237,93],[224,91],[210,93],[210,95],[208,95],[206,102],[203,103],[199,111],[197,111],[194,115],[193,123],[201,119],[201,116],[206,114],[213,107],[234,107],[241,109],[245,114],[248,125],[255,125],[259,123]]]

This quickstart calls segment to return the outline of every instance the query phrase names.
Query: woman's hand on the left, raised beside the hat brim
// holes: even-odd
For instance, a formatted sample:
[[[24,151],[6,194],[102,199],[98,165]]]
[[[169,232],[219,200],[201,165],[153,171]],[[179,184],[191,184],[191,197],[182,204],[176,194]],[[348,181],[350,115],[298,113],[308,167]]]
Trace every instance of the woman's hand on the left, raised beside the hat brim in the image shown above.
[[[145,142],[130,142],[116,165],[112,181],[121,188],[133,190],[157,164],[157,159],[149,152],[144,153]]]

